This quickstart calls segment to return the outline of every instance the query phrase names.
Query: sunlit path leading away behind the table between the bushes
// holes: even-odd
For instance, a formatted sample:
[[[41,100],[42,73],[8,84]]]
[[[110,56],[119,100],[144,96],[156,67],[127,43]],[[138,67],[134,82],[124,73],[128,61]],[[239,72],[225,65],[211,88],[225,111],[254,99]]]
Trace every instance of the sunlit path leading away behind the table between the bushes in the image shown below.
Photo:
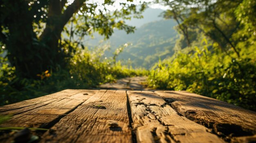
[[[114,83],[106,83],[99,86],[101,89],[112,90],[152,90],[147,88],[147,77],[126,77],[118,79]]]

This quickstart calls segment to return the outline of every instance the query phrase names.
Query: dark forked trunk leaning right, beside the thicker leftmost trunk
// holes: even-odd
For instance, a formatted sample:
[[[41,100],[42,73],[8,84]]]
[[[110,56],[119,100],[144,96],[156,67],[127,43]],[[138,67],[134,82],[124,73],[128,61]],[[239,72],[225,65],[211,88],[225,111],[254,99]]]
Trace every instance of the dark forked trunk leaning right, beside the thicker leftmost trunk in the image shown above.
[[[63,51],[61,51],[60,43],[61,32],[65,24],[70,20],[73,14],[83,6],[85,0],[75,0],[64,13],[61,13],[63,8],[63,2],[59,0],[50,0],[48,20],[45,27],[45,31],[40,35],[40,42],[47,45],[49,51],[49,65],[50,68],[65,67]]]

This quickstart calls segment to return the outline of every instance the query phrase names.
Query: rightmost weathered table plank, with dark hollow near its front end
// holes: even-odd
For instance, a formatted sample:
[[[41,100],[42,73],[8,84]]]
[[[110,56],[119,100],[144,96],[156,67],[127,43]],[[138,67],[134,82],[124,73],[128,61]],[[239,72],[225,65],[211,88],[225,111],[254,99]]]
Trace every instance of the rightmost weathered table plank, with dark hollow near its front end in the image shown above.
[[[186,91],[156,91],[186,118],[200,123],[227,141],[256,134],[256,112]]]

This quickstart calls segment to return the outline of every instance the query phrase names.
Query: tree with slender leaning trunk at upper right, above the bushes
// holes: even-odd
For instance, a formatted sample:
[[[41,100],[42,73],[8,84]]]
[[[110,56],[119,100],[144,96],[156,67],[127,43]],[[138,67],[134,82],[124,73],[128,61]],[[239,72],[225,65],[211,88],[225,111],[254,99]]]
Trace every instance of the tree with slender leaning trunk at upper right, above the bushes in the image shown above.
[[[170,10],[165,11],[164,16],[177,21],[188,46],[193,41],[188,31],[194,27],[217,42],[223,51],[232,48],[234,53],[240,56],[236,47],[237,41],[233,40],[232,35],[237,32],[240,25],[234,11],[241,0],[156,1],[170,7]]]

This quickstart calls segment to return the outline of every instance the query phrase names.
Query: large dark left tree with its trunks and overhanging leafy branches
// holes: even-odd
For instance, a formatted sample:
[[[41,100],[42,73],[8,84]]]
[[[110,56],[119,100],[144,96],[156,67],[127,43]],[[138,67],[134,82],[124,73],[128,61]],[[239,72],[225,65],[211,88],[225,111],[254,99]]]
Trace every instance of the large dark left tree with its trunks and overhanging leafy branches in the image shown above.
[[[71,19],[79,21],[76,34],[81,38],[92,31],[108,38],[115,28],[133,32],[135,27],[121,19],[129,19],[131,15],[139,17],[145,8],[144,3],[138,10],[132,2],[70,1],[0,1],[0,44],[6,47],[9,62],[15,66],[18,77],[36,78],[45,70],[65,67],[70,55],[61,46],[61,33]],[[119,9],[108,9],[113,4],[119,5]]]

